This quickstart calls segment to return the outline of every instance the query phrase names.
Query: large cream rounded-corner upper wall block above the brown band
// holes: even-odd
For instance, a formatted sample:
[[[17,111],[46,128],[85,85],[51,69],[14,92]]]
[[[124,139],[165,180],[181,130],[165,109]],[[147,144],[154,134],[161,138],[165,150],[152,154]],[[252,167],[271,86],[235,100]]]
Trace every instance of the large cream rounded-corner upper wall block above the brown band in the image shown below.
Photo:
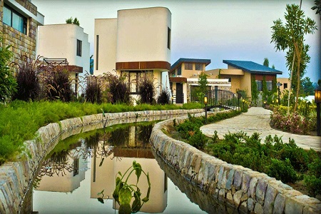
[[[170,17],[164,7],[118,11],[116,62],[170,62]]]

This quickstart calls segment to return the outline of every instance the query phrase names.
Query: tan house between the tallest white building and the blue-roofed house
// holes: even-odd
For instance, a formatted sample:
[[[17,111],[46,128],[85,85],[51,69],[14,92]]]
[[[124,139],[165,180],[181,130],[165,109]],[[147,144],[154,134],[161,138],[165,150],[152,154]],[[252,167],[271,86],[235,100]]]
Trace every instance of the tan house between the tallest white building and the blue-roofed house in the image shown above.
[[[188,103],[196,101],[195,90],[198,88],[198,76],[205,72],[205,67],[210,64],[210,59],[180,58],[170,68],[170,91],[173,93],[174,103]],[[226,79],[208,76],[208,90],[230,90],[230,83]]]

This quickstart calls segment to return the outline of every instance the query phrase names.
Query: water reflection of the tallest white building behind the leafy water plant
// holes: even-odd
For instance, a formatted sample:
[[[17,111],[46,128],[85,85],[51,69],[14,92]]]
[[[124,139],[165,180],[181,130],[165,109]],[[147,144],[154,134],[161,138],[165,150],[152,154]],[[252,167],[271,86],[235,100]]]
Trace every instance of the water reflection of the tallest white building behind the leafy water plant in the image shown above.
[[[141,135],[146,135],[146,133]],[[136,142],[133,142],[135,139]],[[133,161],[136,161],[141,164],[146,173],[149,173],[151,179],[150,200],[143,205],[141,211],[146,213],[161,213],[167,205],[168,178],[154,159],[151,148],[142,148],[145,146],[139,144],[143,143],[143,141],[137,140],[136,127],[131,126],[128,131],[128,138],[126,138],[128,142],[120,142],[122,146],[114,147],[113,153],[110,156],[98,156],[97,154],[101,152],[93,151],[94,155],[91,159],[91,198],[98,198],[97,193],[104,190],[104,197],[108,198],[109,196],[112,199],[113,190],[116,186],[116,174],[118,171],[125,173],[133,165]],[[96,149],[108,151],[108,146],[102,145],[103,143],[100,141]],[[128,183],[136,183],[135,173],[132,174]],[[147,194],[148,183],[146,176],[143,174],[138,182],[138,187],[141,189],[141,197],[144,198]]]

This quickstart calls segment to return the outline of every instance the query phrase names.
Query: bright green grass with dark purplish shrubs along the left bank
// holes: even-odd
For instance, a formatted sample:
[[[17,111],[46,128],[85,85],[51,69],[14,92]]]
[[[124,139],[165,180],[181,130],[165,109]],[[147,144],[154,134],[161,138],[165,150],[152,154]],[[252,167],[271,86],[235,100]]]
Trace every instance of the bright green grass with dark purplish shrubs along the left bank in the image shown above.
[[[1,38],[0,38],[1,41]],[[155,98],[153,79],[141,75],[139,98],[130,98],[127,76],[106,73],[71,78],[68,66],[48,65],[22,55],[21,63],[11,63],[10,46],[0,46],[0,165],[14,161],[24,152],[24,141],[48,123],[96,113],[201,108],[200,103],[176,106],[168,90]],[[69,70],[68,70],[69,69]],[[76,83],[77,86],[76,86]],[[79,87],[81,95],[75,93]],[[134,106],[133,103],[136,103]]]

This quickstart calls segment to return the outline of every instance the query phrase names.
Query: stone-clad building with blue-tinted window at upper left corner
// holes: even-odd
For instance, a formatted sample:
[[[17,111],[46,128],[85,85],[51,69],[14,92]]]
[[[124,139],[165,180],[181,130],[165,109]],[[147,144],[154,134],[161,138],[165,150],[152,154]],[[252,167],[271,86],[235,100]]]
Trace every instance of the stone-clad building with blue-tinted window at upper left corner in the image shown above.
[[[35,59],[37,28],[44,25],[44,15],[30,0],[1,0],[0,19],[0,36],[11,46],[14,62],[20,63],[24,54]]]

